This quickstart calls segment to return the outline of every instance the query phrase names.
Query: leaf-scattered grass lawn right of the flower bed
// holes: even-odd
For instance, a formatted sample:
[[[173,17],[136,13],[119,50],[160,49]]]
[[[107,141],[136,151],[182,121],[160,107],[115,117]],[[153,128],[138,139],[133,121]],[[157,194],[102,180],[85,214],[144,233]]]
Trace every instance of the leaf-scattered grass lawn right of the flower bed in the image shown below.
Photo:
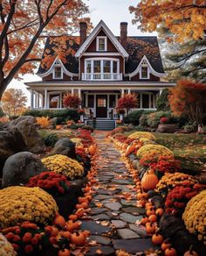
[[[184,167],[194,170],[206,168],[206,135],[180,133],[154,133],[156,142],[167,146],[182,160]]]

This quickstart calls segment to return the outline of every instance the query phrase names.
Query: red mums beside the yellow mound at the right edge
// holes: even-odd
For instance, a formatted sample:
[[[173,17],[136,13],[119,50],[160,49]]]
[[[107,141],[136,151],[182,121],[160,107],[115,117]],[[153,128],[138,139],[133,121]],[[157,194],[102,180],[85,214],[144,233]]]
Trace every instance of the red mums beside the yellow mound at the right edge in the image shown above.
[[[189,200],[196,196],[204,186],[201,184],[195,184],[193,187],[177,186],[168,192],[168,196],[165,202],[165,208],[167,213],[173,213],[175,215],[182,215],[186,204]]]

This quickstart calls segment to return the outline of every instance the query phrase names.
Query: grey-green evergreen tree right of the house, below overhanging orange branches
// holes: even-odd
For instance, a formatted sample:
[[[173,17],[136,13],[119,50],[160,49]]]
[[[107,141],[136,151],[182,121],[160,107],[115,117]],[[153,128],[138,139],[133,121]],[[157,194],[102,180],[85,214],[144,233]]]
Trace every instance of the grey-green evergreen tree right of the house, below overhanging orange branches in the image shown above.
[[[161,38],[162,60],[168,79],[176,81],[180,78],[194,79],[196,82],[206,82],[206,38],[188,40],[182,44],[168,43],[172,33],[161,26],[158,29]]]

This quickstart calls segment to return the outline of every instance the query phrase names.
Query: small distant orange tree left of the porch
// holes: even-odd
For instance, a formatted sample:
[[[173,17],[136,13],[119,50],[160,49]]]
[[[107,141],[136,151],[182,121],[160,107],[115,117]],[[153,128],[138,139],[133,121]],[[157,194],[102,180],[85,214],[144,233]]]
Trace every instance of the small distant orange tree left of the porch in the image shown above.
[[[21,89],[10,88],[3,93],[3,111],[10,117],[21,115],[25,110],[26,102],[27,97]]]

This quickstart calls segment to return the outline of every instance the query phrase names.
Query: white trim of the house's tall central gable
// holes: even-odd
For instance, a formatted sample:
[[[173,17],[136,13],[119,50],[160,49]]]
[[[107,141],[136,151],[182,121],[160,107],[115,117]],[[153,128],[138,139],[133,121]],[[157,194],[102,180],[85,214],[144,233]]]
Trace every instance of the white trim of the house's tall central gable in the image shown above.
[[[113,32],[111,32],[111,30],[107,27],[103,20],[100,20],[100,23],[93,29],[93,32],[91,32],[91,34],[87,37],[86,41],[82,44],[82,46],[79,47],[79,50],[75,54],[75,57],[79,58],[82,53],[85,53],[87,47],[93,42],[93,39],[97,36],[101,29],[106,33],[106,36],[112,41],[113,45],[122,54],[122,56],[128,58],[129,55],[127,51],[124,49],[123,46],[121,46],[118,39],[113,35]]]

